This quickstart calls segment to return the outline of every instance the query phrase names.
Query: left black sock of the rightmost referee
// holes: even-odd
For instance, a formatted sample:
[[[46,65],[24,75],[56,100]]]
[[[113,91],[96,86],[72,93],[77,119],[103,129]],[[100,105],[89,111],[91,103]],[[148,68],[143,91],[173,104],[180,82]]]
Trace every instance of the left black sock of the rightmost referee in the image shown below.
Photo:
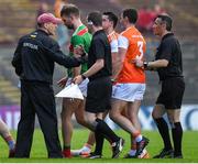
[[[169,138],[169,130],[168,130],[168,125],[167,125],[166,121],[163,118],[158,118],[158,119],[154,119],[154,120],[158,128],[158,132],[164,141],[164,149],[166,151],[173,150],[170,138]]]

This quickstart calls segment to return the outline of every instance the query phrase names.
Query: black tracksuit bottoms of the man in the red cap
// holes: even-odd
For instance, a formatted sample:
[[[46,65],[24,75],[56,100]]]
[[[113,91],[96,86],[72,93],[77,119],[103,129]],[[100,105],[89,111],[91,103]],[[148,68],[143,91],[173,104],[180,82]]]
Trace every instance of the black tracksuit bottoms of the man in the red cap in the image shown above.
[[[26,80],[21,81],[21,119],[18,124],[15,157],[30,157],[35,114],[44,134],[48,157],[62,157],[52,85]]]

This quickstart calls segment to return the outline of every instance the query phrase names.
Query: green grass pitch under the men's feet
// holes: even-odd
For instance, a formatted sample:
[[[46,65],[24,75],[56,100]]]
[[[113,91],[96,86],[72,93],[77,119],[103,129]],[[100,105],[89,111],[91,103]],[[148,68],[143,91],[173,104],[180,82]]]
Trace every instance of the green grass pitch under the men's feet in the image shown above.
[[[120,158],[110,158],[111,157],[111,150],[106,142],[103,147],[103,158],[101,160],[89,160],[89,158],[80,158],[80,157],[73,157],[73,158],[47,158],[46,147],[43,140],[42,132],[40,130],[35,130],[34,133],[34,141],[32,145],[31,158],[8,158],[8,146],[2,139],[0,139],[0,163],[198,163],[198,131],[186,131],[184,132],[183,138],[183,151],[184,151],[184,158],[183,160],[172,160],[172,158],[164,158],[164,160],[156,160],[156,158],[148,158],[148,160],[132,160],[132,158],[123,158],[123,155],[130,149],[130,138],[129,134],[122,130],[116,131],[119,135],[125,139],[125,146],[120,155]],[[15,132],[12,132],[15,138]],[[144,131],[144,135],[150,139],[150,144],[147,146],[147,151],[150,155],[153,156],[163,147],[162,141],[157,131]],[[79,149],[86,142],[88,135],[87,130],[75,130],[72,149]],[[62,136],[59,134],[59,136]]]

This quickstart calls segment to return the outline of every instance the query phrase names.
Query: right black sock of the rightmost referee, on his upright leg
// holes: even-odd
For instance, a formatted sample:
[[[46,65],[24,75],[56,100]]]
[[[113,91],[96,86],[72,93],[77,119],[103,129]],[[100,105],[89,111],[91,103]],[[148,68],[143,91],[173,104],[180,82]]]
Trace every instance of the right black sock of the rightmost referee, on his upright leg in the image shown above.
[[[183,128],[180,122],[175,122],[172,128],[172,135],[174,141],[174,156],[180,156],[182,153],[182,140],[183,140]]]

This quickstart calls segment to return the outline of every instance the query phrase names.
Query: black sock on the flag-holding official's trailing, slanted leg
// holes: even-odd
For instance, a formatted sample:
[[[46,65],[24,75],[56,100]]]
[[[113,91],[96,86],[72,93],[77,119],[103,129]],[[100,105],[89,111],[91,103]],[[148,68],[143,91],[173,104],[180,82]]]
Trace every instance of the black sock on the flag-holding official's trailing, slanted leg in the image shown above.
[[[109,125],[103,120],[97,118],[96,121],[96,131],[102,133],[103,136],[112,143],[119,141],[120,138],[109,128]]]

